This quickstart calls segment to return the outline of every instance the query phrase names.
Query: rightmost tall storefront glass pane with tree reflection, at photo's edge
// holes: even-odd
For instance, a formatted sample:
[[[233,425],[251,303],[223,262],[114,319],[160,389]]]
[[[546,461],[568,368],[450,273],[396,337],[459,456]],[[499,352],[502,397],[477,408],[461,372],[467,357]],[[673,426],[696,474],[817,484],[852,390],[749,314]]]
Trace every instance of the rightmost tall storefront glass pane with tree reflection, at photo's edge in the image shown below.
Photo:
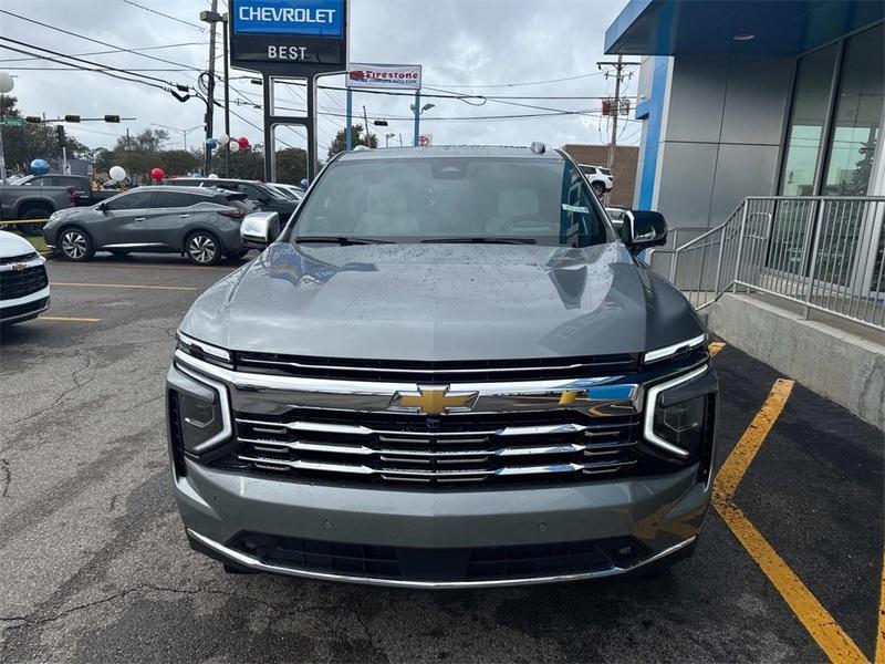
[[[885,28],[855,34],[845,43],[824,196],[866,196],[885,100]]]

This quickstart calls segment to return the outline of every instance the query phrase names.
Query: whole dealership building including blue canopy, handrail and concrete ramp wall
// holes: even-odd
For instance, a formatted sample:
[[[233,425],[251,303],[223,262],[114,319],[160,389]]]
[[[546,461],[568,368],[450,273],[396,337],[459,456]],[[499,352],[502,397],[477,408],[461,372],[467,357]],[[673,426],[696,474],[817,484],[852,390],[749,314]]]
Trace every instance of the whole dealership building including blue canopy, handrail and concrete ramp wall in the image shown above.
[[[646,260],[727,342],[885,428],[885,2],[629,0]]]

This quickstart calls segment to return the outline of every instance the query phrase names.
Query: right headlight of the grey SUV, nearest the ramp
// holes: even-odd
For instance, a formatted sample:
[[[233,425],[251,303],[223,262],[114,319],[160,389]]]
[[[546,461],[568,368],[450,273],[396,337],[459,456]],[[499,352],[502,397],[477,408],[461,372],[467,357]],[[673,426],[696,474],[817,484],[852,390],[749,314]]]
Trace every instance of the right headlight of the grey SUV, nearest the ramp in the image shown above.
[[[712,439],[716,390],[707,365],[650,387],[645,439],[680,459],[705,454]]]

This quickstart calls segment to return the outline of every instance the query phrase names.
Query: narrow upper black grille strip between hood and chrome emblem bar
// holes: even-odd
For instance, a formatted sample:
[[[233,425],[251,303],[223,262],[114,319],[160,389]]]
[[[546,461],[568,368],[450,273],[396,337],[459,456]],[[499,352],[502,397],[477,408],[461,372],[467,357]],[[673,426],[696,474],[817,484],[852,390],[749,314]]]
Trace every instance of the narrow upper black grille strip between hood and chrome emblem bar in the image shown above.
[[[635,373],[635,353],[529,360],[418,362],[304,357],[277,353],[233,353],[237,371],[352,381],[407,381],[414,383],[470,383],[480,381],[535,381],[590,378]]]

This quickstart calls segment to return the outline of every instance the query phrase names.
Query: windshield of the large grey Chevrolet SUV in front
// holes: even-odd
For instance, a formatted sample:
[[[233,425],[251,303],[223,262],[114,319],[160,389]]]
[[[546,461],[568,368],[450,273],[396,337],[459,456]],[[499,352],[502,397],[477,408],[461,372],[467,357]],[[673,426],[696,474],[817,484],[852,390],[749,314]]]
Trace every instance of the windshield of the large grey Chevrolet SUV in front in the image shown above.
[[[611,241],[571,162],[420,157],[332,164],[298,216],[294,241]]]

